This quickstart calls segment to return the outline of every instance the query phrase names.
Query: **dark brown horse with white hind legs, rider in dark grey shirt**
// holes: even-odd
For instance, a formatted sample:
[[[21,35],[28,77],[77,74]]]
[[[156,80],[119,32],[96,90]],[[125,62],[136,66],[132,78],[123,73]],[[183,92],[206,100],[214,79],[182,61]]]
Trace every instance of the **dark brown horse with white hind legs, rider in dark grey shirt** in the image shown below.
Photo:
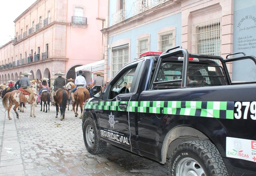
[[[56,118],[58,118],[58,109],[60,106],[61,111],[61,121],[65,119],[65,111],[66,111],[66,105],[67,105],[67,99],[68,99],[68,92],[65,89],[59,88],[54,93],[54,101],[55,101],[55,107],[56,107]]]

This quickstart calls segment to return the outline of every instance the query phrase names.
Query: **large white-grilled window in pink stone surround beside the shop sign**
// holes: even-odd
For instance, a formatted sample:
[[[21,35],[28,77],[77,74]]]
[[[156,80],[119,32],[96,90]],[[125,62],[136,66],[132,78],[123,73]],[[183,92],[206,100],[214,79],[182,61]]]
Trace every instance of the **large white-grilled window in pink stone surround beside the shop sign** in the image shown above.
[[[219,56],[220,35],[221,18],[194,24],[192,26],[192,53]]]

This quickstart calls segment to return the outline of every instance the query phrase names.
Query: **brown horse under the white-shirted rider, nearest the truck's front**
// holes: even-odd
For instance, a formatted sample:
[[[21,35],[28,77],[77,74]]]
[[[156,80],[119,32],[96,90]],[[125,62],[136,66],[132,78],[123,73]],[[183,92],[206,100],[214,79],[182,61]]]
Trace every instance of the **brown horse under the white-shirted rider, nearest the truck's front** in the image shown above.
[[[74,99],[75,102],[73,103],[73,111],[75,113],[75,117],[78,116],[78,105],[80,106],[81,109],[81,115],[80,119],[82,119],[82,114],[83,114],[83,102],[90,98],[90,93],[87,88],[77,88],[77,90],[74,92]],[[76,105],[76,111],[75,111],[75,105]]]

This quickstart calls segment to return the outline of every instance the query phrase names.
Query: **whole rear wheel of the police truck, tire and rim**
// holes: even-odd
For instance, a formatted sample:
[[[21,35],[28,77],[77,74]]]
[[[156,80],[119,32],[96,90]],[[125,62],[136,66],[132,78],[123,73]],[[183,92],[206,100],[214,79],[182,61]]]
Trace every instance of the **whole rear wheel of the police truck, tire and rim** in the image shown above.
[[[208,140],[178,145],[168,162],[168,175],[228,176],[218,149]]]

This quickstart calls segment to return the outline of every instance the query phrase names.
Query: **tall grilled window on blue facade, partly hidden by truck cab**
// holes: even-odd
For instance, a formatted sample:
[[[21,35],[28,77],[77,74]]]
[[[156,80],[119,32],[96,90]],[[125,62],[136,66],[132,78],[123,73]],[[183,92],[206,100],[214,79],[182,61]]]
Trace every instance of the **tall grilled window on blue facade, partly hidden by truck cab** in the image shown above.
[[[125,65],[129,62],[129,47],[115,47],[112,49],[112,63],[111,63],[111,72],[112,77]]]

